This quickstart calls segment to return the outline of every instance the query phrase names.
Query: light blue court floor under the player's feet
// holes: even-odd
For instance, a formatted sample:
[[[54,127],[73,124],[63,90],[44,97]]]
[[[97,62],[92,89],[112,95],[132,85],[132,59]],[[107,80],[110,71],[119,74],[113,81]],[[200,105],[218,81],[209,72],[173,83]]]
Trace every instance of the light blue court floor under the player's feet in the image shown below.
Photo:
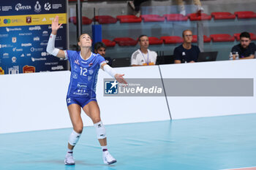
[[[117,163],[102,162],[95,129],[86,127],[64,165],[71,128],[0,134],[1,170],[211,170],[256,166],[256,114],[106,125]]]

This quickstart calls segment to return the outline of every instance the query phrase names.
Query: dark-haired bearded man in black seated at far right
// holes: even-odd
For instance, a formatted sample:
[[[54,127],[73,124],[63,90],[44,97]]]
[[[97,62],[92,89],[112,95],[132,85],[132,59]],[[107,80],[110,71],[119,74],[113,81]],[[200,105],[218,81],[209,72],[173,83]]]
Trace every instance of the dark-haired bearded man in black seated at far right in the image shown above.
[[[251,36],[248,32],[240,34],[240,44],[235,45],[231,52],[233,53],[233,60],[236,60],[236,53],[239,59],[252,59],[255,58],[256,45],[251,41]]]

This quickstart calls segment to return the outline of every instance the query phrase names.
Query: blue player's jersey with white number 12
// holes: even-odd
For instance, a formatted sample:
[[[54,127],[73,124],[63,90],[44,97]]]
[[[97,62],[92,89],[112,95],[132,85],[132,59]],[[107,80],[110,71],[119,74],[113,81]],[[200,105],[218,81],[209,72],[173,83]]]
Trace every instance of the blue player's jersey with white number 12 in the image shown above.
[[[105,63],[105,59],[102,55],[91,53],[91,56],[84,60],[80,55],[80,51],[65,50],[64,52],[69,59],[71,67],[67,96],[94,96],[98,72],[102,63]]]

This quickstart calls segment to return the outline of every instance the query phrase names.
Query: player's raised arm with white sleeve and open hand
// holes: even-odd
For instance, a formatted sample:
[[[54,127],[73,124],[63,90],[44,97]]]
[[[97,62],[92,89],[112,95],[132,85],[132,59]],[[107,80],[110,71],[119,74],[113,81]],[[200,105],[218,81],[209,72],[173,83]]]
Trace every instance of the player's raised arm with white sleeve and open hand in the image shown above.
[[[58,48],[55,47],[55,39],[56,39],[57,31],[61,27],[61,25],[62,24],[59,24],[59,17],[56,16],[56,18],[54,18],[54,20],[52,21],[52,24],[51,24],[52,32],[50,34],[50,38],[48,41],[48,45],[46,47],[46,51],[56,57],[66,58],[64,50],[59,50]]]

